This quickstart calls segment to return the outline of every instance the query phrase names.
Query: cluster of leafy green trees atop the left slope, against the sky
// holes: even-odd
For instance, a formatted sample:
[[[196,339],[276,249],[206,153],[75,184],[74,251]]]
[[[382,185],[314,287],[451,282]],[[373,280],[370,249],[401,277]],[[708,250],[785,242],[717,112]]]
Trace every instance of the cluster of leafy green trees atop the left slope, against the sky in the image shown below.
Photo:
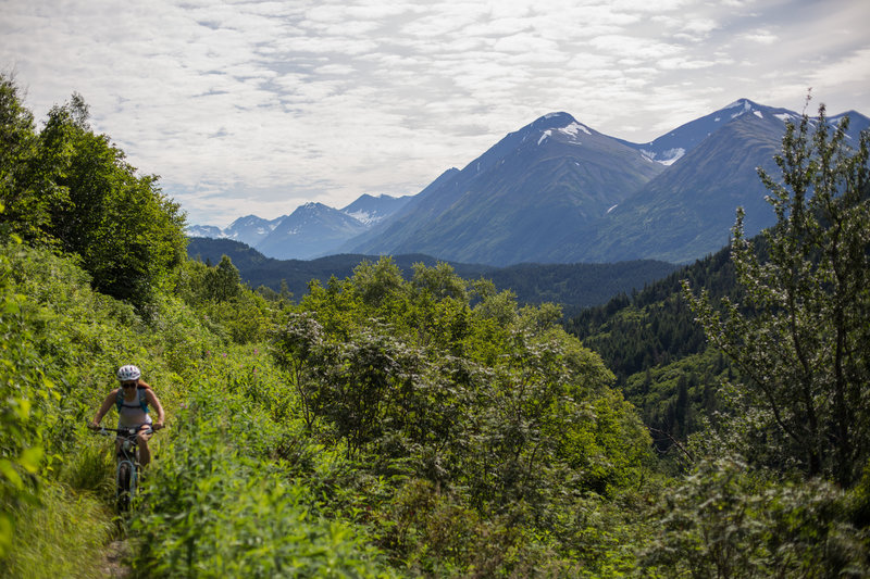
[[[0,156],[7,228],[79,255],[99,291],[139,309],[150,304],[185,256],[179,205],[156,176],[137,176],[124,152],[91,130],[80,96],[54,106],[38,135],[4,76],[0,108],[0,130],[11,141]]]

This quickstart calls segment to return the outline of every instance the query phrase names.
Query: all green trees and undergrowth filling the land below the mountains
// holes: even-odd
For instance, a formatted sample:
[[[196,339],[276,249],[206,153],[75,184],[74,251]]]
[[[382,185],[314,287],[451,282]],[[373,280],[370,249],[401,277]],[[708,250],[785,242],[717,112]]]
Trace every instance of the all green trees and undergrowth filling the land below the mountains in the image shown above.
[[[38,129],[0,77],[0,574],[868,576],[868,141],[819,127],[761,176],[763,256],[738,214],[710,276],[574,335],[443,263],[251,289],[187,259],[179,206],[80,97]],[[86,424],[130,363],[167,428],[117,516]],[[644,421],[670,395],[636,380],[679,364],[710,369],[678,461]]]

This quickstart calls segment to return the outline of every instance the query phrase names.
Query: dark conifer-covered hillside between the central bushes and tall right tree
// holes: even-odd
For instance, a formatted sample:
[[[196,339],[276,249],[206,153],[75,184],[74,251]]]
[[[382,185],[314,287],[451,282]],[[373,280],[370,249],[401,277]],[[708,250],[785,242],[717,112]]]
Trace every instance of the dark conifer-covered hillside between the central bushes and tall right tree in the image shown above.
[[[755,241],[763,244],[761,237]],[[725,248],[566,323],[566,329],[616,374],[625,398],[651,429],[658,450],[672,454],[679,454],[675,443],[685,443],[719,408],[716,392],[735,373],[730,360],[708,345],[683,297],[683,280],[718,300],[743,298],[731,249]]]

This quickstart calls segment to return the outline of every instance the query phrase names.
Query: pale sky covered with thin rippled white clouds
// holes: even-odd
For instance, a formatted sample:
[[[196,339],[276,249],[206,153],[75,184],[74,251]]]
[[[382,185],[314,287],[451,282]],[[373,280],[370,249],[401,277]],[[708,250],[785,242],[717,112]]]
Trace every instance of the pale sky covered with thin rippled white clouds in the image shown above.
[[[868,0],[0,0],[38,121],[77,92],[188,223],[415,194],[550,112],[648,142],[748,98],[870,115]]]

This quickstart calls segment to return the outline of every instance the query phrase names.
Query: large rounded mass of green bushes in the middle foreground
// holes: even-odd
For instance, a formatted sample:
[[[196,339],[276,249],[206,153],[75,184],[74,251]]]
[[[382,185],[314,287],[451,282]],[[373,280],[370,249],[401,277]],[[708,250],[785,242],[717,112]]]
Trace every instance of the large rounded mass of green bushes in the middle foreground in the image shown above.
[[[312,435],[359,465],[341,487],[383,481],[333,507],[371,513],[380,543],[423,572],[573,575],[559,513],[642,484],[650,455],[612,374],[559,319],[444,264],[406,281],[385,259],[313,285],[275,360]],[[604,569],[612,553],[597,553]]]

